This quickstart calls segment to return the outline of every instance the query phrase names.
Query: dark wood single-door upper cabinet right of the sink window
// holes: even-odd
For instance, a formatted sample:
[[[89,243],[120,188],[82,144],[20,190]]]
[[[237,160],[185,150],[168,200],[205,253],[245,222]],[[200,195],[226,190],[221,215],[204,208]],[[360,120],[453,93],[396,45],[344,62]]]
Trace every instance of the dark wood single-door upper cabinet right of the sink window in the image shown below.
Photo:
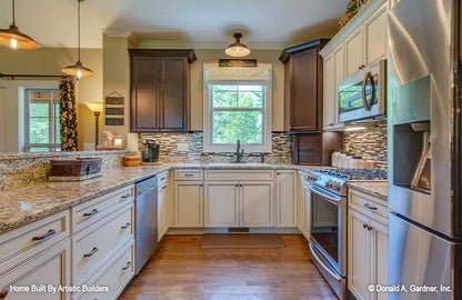
[[[279,58],[284,64],[285,130],[322,130],[322,58],[319,51],[329,40],[320,39],[285,49]]]

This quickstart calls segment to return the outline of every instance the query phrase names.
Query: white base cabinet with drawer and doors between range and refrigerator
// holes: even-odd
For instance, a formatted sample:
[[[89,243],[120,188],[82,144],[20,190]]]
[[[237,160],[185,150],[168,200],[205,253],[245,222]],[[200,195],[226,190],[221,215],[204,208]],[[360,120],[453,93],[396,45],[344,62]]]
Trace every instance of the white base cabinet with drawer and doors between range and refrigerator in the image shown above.
[[[386,293],[369,291],[370,284],[388,282],[388,224],[381,216],[383,200],[349,191],[348,286],[361,300],[384,300]],[[369,209],[368,209],[369,208]]]

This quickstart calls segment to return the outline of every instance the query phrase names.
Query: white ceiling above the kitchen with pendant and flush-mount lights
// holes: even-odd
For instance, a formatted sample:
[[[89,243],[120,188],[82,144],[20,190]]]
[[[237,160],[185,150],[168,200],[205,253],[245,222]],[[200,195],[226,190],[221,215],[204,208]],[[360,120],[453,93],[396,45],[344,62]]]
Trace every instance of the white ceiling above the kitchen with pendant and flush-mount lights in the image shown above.
[[[349,0],[87,0],[82,47],[101,48],[102,31],[142,40],[224,47],[232,32],[253,48],[273,49],[330,37]],[[77,0],[17,0],[17,26],[42,47],[77,47]],[[11,1],[0,1],[0,28],[11,23]]]

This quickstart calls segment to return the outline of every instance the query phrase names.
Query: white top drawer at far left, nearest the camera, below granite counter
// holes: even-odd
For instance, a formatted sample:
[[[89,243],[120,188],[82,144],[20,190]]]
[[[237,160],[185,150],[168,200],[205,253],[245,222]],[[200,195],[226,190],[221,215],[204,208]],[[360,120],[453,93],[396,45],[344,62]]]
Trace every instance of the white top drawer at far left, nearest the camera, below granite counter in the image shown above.
[[[69,210],[0,234],[0,273],[69,237]]]

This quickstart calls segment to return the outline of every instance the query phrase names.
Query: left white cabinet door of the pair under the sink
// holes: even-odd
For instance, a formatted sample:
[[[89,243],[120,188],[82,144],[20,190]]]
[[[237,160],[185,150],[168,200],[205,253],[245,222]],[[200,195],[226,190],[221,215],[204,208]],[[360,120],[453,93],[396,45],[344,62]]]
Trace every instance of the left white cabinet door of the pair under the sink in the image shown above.
[[[205,227],[239,226],[239,182],[205,182]]]

